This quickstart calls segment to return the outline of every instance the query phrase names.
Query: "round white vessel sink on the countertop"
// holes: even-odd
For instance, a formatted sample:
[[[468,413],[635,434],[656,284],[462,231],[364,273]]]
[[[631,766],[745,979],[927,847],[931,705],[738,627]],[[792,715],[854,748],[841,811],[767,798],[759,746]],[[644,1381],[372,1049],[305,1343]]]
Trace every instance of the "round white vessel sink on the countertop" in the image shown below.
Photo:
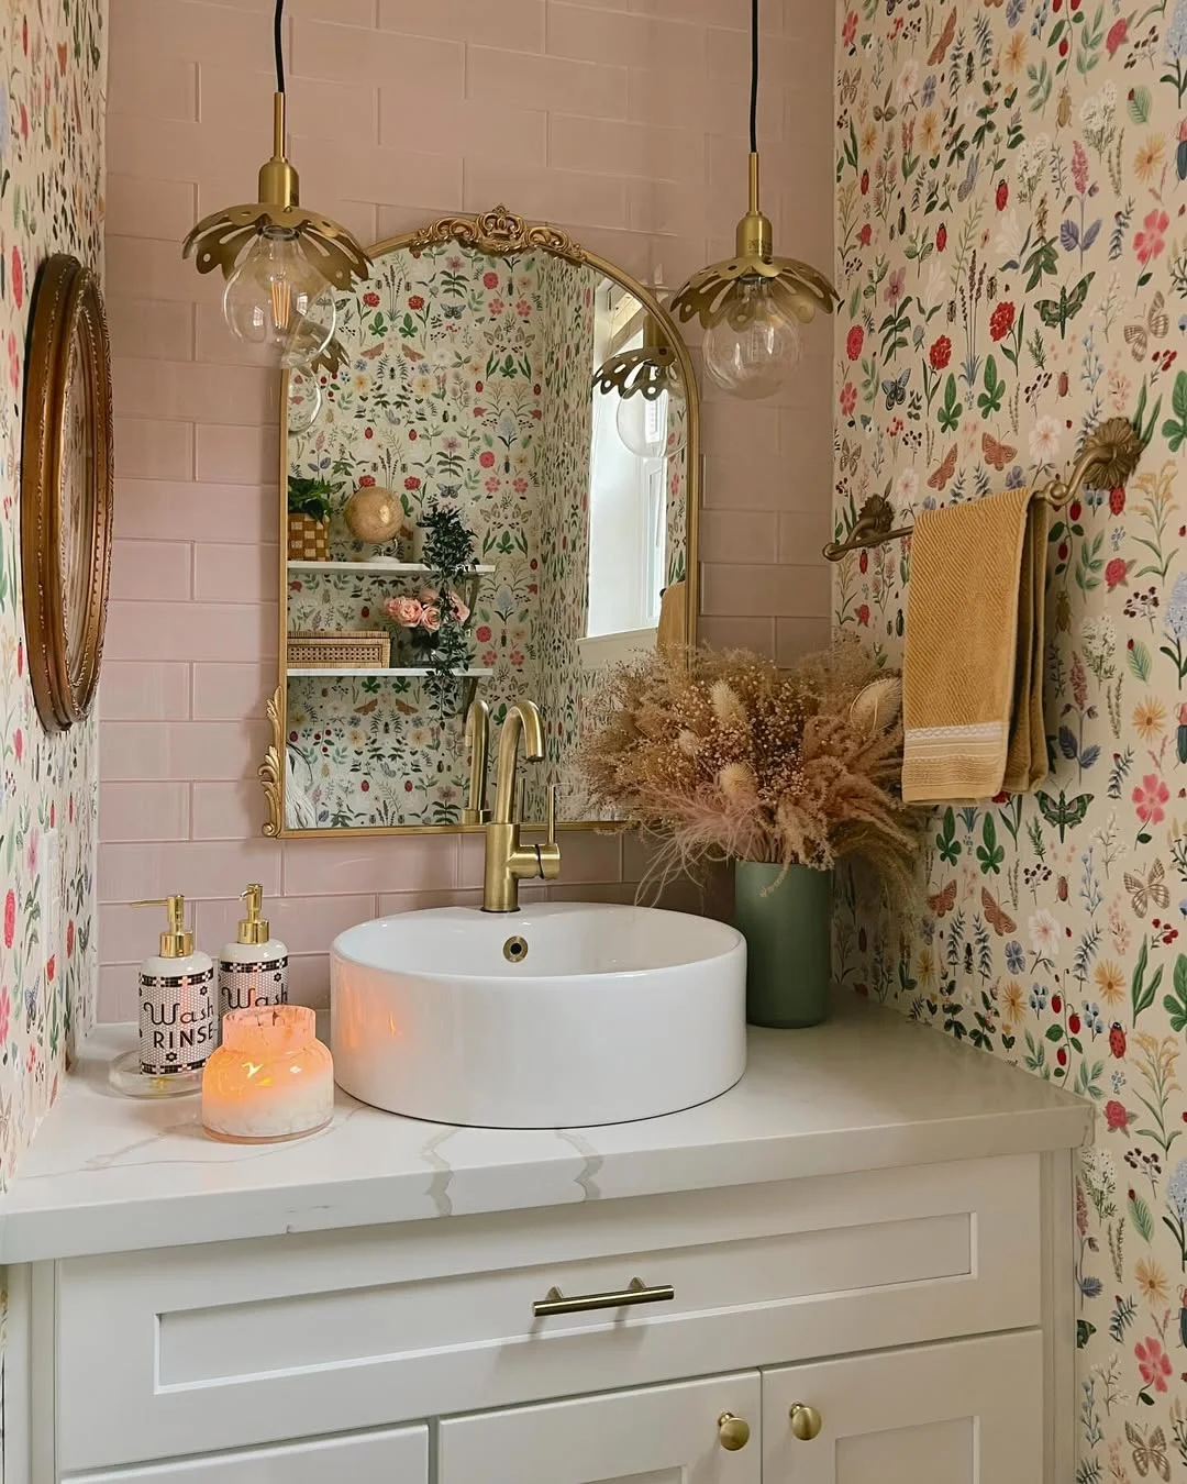
[[[580,1128],[675,1113],[746,1066],[746,948],[647,907],[380,917],[331,948],[340,1086],[441,1123]]]

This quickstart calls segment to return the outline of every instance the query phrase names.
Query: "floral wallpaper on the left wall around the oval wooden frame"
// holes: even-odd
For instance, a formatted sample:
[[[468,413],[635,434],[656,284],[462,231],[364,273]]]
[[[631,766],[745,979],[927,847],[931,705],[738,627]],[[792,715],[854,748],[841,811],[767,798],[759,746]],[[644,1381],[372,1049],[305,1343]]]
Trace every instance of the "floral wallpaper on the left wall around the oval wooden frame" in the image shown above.
[[[25,672],[21,413],[30,295],[56,251],[102,267],[107,7],[0,9],[0,1189],[93,1018],[93,717],[46,736]],[[46,837],[58,840],[56,879]],[[55,904],[58,944],[42,914]],[[50,908],[53,910],[53,908]]]

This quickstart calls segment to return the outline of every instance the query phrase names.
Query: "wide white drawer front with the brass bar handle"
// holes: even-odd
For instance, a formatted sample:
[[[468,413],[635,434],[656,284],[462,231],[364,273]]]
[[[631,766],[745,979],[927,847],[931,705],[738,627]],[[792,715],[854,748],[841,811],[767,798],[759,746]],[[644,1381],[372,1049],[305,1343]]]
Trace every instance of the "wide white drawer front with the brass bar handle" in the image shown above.
[[[533,1316],[671,1284],[672,1301]],[[1034,1156],[58,1266],[64,1468],[1039,1322]],[[212,1434],[214,1429],[215,1432]],[[217,1434],[217,1435],[215,1435]]]

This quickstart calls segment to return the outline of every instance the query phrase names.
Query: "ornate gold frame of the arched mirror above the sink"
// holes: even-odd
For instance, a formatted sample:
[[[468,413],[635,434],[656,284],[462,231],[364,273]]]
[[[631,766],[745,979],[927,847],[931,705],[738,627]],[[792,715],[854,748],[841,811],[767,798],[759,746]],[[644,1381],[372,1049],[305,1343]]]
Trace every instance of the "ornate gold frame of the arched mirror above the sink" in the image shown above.
[[[700,522],[700,387],[696,380],[696,368],[688,347],[680,334],[680,326],[656,298],[650,288],[634,279],[616,263],[583,248],[576,237],[546,221],[527,221],[516,217],[506,206],[499,205],[494,211],[478,215],[439,217],[415,232],[405,232],[396,237],[386,237],[368,248],[368,257],[374,261],[384,252],[398,252],[401,248],[427,248],[442,242],[457,242],[464,248],[478,252],[488,252],[493,257],[509,257],[515,252],[543,249],[568,263],[585,264],[605,278],[620,283],[628,292],[644,306],[644,309],[660,324],[666,332],[668,344],[677,356],[677,364],[684,374],[685,399],[688,408],[688,436],[684,445],[685,487],[687,487],[687,552],[684,558],[684,643],[688,649],[696,644],[697,607],[700,595],[700,562],[699,562],[699,522]],[[280,374],[280,531],[283,531],[288,490],[288,371]],[[288,697],[288,663],[285,634],[288,631],[288,548],[283,539],[280,551],[280,659],[279,684],[267,703],[269,723],[272,726],[272,743],[260,766],[260,782],[267,797],[269,815],[263,825],[263,834],[270,840],[340,840],[344,835],[420,835],[420,834],[481,834],[484,825],[359,825],[352,830],[289,830],[285,825],[285,733],[286,697]],[[536,825],[525,825],[536,828]],[[617,830],[622,828],[613,819],[570,819],[558,824],[559,830]]]

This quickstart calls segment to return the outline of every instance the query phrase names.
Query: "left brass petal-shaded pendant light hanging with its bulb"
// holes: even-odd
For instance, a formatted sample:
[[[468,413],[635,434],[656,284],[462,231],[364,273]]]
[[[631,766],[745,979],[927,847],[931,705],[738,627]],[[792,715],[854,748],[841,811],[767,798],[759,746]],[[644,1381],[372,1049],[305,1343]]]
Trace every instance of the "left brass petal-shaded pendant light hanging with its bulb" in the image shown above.
[[[185,237],[183,257],[194,252],[199,273],[223,270],[223,313],[234,335],[272,347],[282,365],[300,367],[332,344],[326,286],[347,289],[365,279],[371,260],[346,227],[300,203],[297,171],[285,156],[283,12],[285,0],[276,0],[273,150],[260,169],[260,199],[203,217]]]

